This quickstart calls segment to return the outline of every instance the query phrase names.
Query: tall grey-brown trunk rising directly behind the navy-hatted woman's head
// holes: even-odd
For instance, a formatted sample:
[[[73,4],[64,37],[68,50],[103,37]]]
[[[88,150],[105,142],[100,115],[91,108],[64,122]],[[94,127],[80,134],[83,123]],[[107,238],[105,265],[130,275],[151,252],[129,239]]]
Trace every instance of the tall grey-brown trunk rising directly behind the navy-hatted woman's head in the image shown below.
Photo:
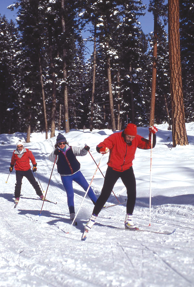
[[[64,34],[65,34],[65,19],[64,19],[64,0],[61,0],[61,26],[62,26],[62,33],[63,33],[63,41]],[[65,120],[65,133],[70,131],[69,128],[69,112],[68,112],[68,86],[66,83],[67,80],[67,64],[66,64],[66,57],[67,52],[66,49],[63,47],[63,80],[64,80],[64,120]]]

